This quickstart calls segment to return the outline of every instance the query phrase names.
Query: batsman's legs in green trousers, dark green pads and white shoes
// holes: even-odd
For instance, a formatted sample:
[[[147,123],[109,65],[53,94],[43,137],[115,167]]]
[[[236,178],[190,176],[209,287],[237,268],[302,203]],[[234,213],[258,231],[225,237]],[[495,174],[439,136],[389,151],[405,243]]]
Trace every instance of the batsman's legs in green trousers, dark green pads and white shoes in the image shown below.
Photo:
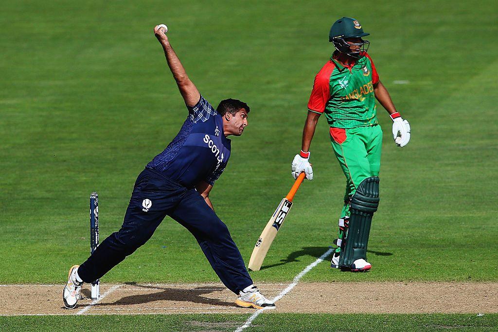
[[[382,132],[378,125],[331,129],[332,146],[347,180],[336,241],[338,248],[332,258],[332,267],[351,268],[352,271],[371,267],[366,261],[366,250],[373,212],[378,206],[381,139]],[[368,212],[357,209],[366,205],[371,208]],[[366,213],[369,216],[364,216]]]

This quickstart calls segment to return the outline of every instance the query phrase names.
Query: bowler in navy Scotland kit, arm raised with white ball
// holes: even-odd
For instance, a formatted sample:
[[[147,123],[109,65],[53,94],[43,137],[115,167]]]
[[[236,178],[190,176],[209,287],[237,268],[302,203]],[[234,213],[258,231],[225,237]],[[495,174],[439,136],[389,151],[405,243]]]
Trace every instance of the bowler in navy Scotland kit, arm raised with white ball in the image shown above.
[[[138,175],[121,229],[107,237],[83,264],[70,268],[62,294],[64,307],[75,308],[83,283],[94,282],[122,262],[170,216],[194,235],[218,277],[238,295],[237,305],[272,309],[275,305],[253,285],[239,249],[209,199],[230,158],[227,136],[242,135],[249,106],[227,99],[215,110],[187,76],[166,32],[163,24],[154,28],[185,100],[187,119],[166,149]]]

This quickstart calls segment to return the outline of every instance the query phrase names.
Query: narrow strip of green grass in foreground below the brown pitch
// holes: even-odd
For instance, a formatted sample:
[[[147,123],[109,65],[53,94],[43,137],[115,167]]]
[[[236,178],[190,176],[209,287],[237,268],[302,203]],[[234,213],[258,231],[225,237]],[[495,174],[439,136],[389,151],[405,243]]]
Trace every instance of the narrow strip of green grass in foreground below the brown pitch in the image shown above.
[[[33,331],[33,317],[0,317],[2,331]],[[38,332],[93,331],[175,332],[233,331],[244,324],[247,315],[137,315],[137,316],[43,316],[36,317]],[[299,324],[296,325],[296,322]],[[246,332],[488,332],[498,331],[497,315],[304,315],[265,314]],[[5,329],[5,330],[3,330]]]

